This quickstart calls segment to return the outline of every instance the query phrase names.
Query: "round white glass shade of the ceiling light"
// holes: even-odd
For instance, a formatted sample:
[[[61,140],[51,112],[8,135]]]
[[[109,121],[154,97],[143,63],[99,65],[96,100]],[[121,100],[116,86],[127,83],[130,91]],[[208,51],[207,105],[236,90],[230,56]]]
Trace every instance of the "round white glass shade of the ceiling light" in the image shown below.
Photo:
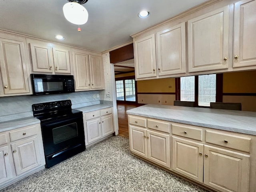
[[[63,13],[66,20],[76,25],[85,24],[88,20],[86,8],[77,2],[66,3],[63,6]]]

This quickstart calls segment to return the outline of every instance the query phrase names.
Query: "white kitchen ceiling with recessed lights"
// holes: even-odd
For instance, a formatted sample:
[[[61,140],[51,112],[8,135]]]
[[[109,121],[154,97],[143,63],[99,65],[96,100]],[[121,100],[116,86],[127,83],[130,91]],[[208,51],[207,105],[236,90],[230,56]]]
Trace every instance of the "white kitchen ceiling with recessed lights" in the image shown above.
[[[0,29],[28,34],[103,52],[132,40],[130,35],[166,20],[207,0],[88,0],[88,22],[78,26],[68,22],[62,7],[67,0],[0,0]],[[140,10],[148,18],[138,17]]]

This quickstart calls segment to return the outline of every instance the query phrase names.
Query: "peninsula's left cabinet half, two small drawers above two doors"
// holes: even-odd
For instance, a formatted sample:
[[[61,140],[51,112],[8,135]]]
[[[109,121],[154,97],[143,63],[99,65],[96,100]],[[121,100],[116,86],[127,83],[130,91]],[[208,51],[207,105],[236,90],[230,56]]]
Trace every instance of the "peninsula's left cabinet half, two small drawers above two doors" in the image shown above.
[[[130,150],[152,162],[170,168],[170,135],[164,132],[170,132],[170,124],[129,116]]]

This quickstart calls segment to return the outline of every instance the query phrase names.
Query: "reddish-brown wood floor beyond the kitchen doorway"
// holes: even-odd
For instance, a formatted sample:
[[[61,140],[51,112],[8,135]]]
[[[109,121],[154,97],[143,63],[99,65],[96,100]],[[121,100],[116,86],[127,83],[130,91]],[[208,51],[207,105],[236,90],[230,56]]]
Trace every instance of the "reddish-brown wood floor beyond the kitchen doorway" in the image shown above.
[[[144,104],[130,104],[130,103],[117,103],[117,112],[118,112],[118,126],[119,126],[119,135],[125,138],[129,138],[128,131],[128,117],[126,111]]]

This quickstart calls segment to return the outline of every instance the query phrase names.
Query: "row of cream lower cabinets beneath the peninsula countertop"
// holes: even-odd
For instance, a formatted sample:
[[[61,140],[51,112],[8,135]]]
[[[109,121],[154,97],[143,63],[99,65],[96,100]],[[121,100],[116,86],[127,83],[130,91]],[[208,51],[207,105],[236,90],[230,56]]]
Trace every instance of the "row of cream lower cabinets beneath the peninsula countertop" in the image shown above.
[[[130,150],[137,156],[218,192],[256,192],[256,136],[142,116],[128,119]]]

